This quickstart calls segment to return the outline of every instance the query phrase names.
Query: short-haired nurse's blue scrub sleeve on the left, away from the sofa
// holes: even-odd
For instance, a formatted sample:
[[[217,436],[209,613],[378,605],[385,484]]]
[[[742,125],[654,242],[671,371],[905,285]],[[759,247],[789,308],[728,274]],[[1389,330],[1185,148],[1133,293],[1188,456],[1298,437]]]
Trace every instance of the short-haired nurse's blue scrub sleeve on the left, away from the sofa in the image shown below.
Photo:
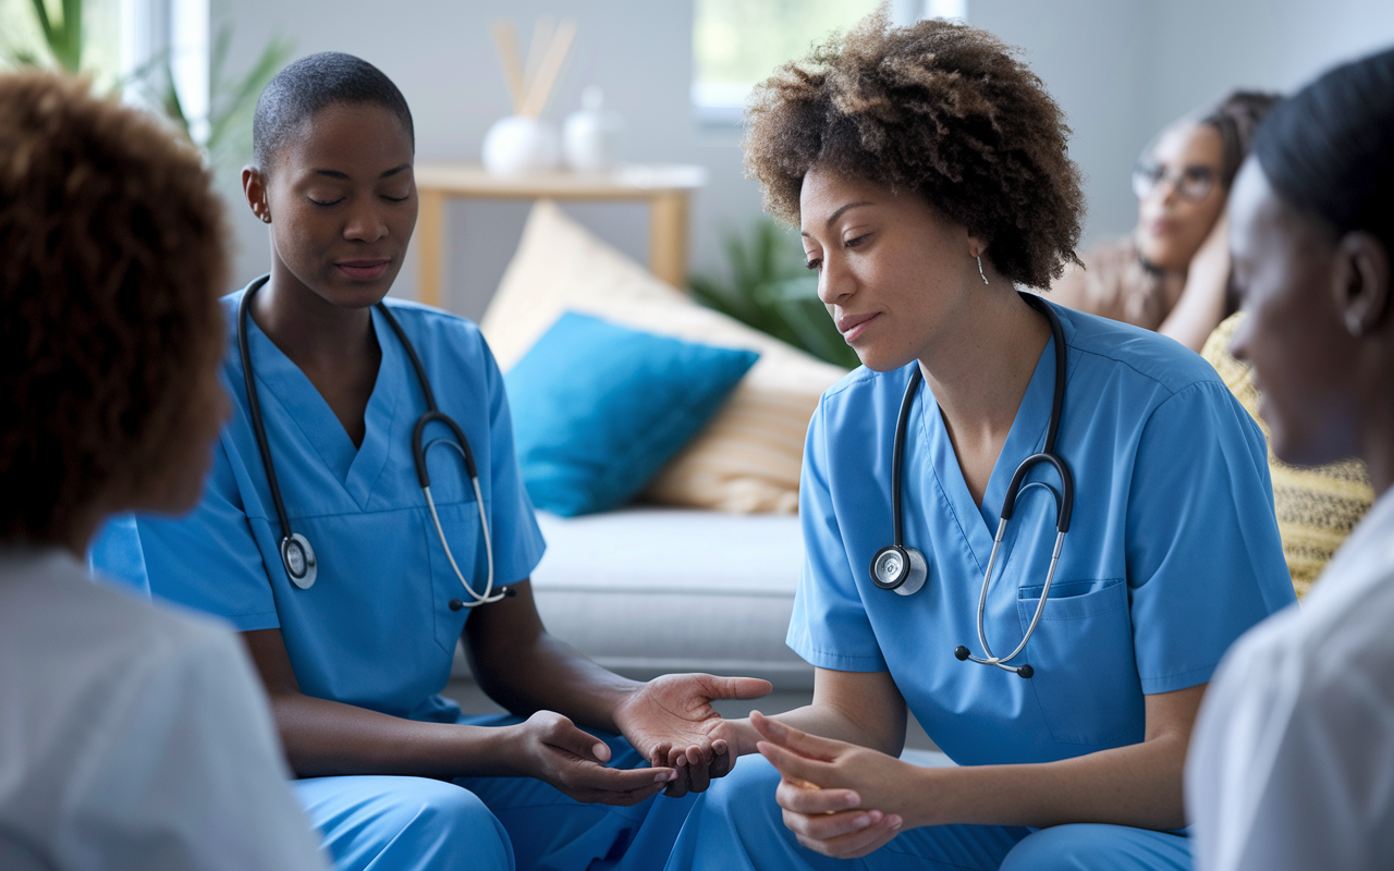
[[[229,460],[227,438],[224,431],[213,447],[213,470],[192,514],[135,518],[151,594],[223,617],[237,631],[280,629],[266,564]],[[270,552],[275,549],[272,542]]]

